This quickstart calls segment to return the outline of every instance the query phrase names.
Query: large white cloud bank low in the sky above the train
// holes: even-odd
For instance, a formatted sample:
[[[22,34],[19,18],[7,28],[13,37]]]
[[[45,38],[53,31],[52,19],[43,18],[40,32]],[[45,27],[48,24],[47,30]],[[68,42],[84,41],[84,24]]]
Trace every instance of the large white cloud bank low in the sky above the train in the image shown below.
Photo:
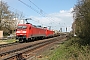
[[[51,13],[47,14],[47,17],[35,17],[31,16],[31,18],[34,21],[37,21],[37,23],[46,25],[46,26],[52,26],[52,29],[59,30],[60,28],[63,28],[63,31],[65,31],[65,28],[67,27],[68,31],[71,30],[72,22],[73,22],[73,14],[71,13],[73,8],[70,10],[60,10],[60,12],[57,13]]]

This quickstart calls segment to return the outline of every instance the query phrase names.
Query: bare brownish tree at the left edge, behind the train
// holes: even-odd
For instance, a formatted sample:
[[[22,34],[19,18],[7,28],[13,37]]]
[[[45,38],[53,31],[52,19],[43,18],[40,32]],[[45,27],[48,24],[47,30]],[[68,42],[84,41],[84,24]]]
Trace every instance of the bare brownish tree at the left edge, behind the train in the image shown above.
[[[4,33],[12,33],[16,29],[17,19],[23,17],[23,13],[10,11],[7,3],[0,1],[0,30]]]

